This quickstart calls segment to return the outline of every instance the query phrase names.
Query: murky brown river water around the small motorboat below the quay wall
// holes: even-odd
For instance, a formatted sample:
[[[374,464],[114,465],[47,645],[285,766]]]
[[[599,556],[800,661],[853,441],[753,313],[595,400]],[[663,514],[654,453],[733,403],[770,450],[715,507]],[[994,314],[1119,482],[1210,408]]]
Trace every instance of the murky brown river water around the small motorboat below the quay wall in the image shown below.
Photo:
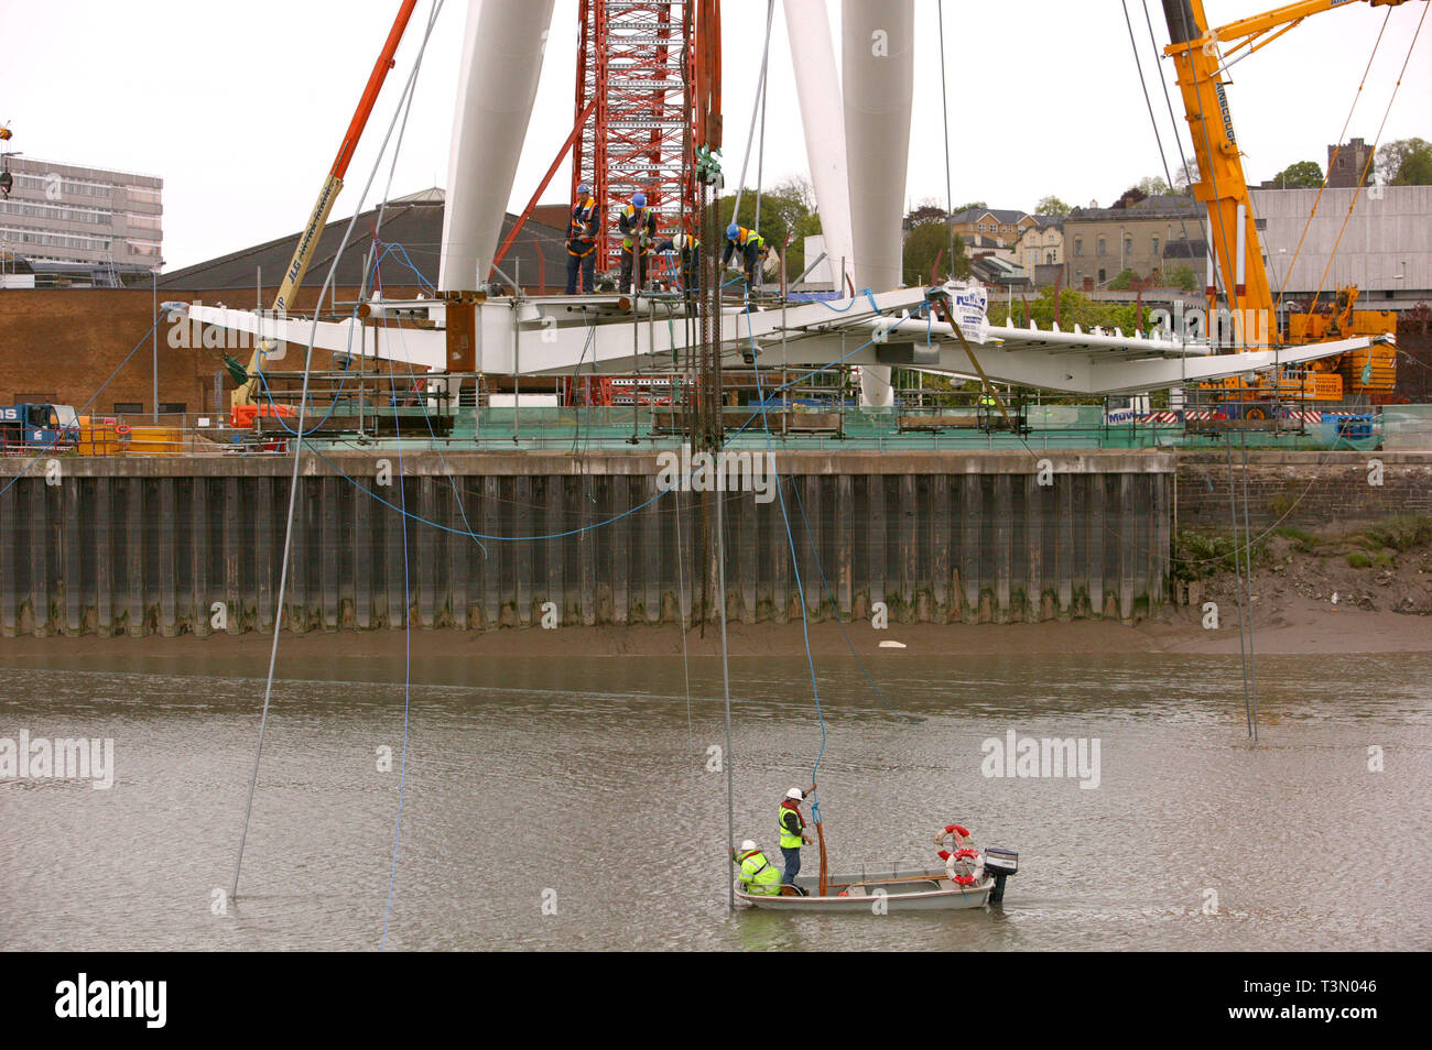
[[[115,747],[109,790],[0,780],[0,947],[374,950],[387,924],[388,948],[1432,948],[1432,655],[1259,658],[1256,745],[1237,657],[878,654],[911,722],[853,661],[822,661],[833,868],[938,863],[948,821],[1021,857],[1002,907],[835,917],[727,913],[710,659],[690,701],[680,658],[424,661],[394,864],[392,641],[281,661],[226,907],[263,664],[202,642],[182,668],[142,644],[84,671],[0,662],[0,741]],[[778,803],[822,747],[809,674],[733,659],[732,679],[736,837],[779,863]],[[1011,731],[1090,762],[1097,741],[1097,787],[1090,767],[985,775]]]

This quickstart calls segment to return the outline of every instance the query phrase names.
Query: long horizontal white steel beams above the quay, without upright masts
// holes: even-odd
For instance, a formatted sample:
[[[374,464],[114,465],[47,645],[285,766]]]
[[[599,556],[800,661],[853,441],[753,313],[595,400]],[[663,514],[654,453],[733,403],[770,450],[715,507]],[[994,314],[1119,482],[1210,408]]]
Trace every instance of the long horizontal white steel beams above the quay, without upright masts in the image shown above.
[[[967,292],[947,285],[951,296]],[[975,373],[954,328],[928,315],[912,316],[927,300],[925,289],[862,293],[853,299],[788,306],[750,313],[727,310],[722,318],[726,368],[812,369],[858,365],[915,368],[958,376]],[[358,322],[306,318],[261,318],[255,312],[216,306],[166,305],[193,323],[259,333],[318,349],[361,353],[368,359],[414,365],[441,373],[447,362],[444,306],[440,300],[390,300],[394,310],[427,309],[435,328],[362,328]],[[633,375],[686,371],[695,348],[686,345],[686,323],[677,302],[619,296],[544,296],[488,299],[480,305],[478,372],[520,376]],[[1167,389],[1226,379],[1277,366],[1297,366],[1362,349],[1372,339],[1343,339],[1297,348],[1217,353],[1201,340],[1163,332],[1063,332],[1058,328],[974,326],[962,329],[969,350],[992,382],[1063,393],[1100,396]],[[295,366],[302,360],[299,353]]]

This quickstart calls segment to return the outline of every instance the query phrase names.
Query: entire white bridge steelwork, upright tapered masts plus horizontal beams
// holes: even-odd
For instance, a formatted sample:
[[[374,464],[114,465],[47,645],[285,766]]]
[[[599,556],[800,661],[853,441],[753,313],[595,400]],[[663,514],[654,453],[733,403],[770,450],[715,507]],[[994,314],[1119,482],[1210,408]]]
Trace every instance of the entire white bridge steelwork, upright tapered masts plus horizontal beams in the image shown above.
[[[849,253],[855,288],[889,289],[901,280],[914,3],[842,0],[839,83],[821,7],[818,0],[786,0],[788,23],[809,33],[790,36],[818,210],[831,223],[828,250],[841,256],[832,260],[835,268]],[[475,290],[485,280],[531,123],[551,10],[553,0],[470,0],[444,213],[438,279],[444,290]],[[809,129],[818,130],[812,134]],[[985,323],[981,288],[955,282],[944,292],[961,309],[977,305],[974,315],[957,315],[968,353],[949,323],[922,310],[927,289],[896,288],[788,305],[785,310],[727,309],[720,323],[722,358],[727,368],[855,366],[862,402],[889,405],[892,368],[969,376],[977,373],[971,356],[994,382],[1098,396],[1295,366],[1373,342],[1345,339],[1217,353],[1207,342],[1166,333],[994,328]],[[251,338],[305,348],[312,333],[315,348],[334,353],[442,372],[448,359],[442,300],[385,302],[382,308],[387,319],[381,323],[345,319],[314,325],[302,318],[166,303],[170,313]],[[411,312],[425,315],[424,320],[402,316]],[[490,298],[478,305],[475,371],[520,376],[683,372],[695,366],[696,356],[684,343],[686,328],[683,305],[672,298]],[[269,360],[278,358],[275,353]],[[454,378],[447,385],[458,382]]]

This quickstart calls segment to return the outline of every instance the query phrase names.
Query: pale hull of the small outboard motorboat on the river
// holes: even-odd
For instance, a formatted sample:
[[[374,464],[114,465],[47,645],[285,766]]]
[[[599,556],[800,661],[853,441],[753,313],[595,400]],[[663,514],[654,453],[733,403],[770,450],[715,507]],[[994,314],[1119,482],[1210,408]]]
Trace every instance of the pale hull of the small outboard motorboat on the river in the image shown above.
[[[892,867],[861,873],[832,874],[826,896],[819,897],[819,880],[798,875],[796,885],[806,897],[778,897],[745,893],[736,884],[736,897],[743,904],[768,911],[855,913],[865,911],[959,911],[982,908],[990,901],[994,878],[974,885],[957,885],[945,870]]]

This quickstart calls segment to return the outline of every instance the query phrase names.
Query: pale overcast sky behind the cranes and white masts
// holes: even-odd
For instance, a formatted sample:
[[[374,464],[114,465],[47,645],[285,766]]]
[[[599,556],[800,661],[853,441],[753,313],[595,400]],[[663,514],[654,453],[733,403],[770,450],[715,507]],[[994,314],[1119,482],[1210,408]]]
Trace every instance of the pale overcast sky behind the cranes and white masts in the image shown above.
[[[945,199],[938,1],[915,0],[911,202]],[[335,216],[357,205],[431,3],[418,3]],[[1223,24],[1277,0],[1204,6]],[[166,269],[289,235],[312,209],[397,9],[397,0],[0,0],[0,122],[14,132],[7,146],[43,160],[163,177]],[[1144,0],[1128,0],[1128,9],[1171,163]],[[1418,1],[1390,9],[1349,136],[1376,136],[1425,9]],[[1158,0],[1148,0],[1148,10],[1161,47],[1167,29]],[[763,0],[723,4],[725,170],[732,180],[750,120],[765,11]],[[1041,196],[1055,193],[1073,205],[1108,205],[1137,179],[1161,173],[1120,0],[944,0],[944,11],[954,203],[981,199],[1032,210]],[[831,13],[838,31],[835,0]],[[1306,20],[1233,67],[1229,96],[1250,182],[1295,160],[1326,163],[1326,146],[1348,117],[1385,17],[1383,9],[1349,4]],[[464,20],[465,3],[447,0],[420,73],[394,196],[447,182]],[[1432,139],[1428,21],[1383,142]],[[577,0],[557,0],[513,210],[527,202],[571,129],[576,41]],[[1173,90],[1167,62],[1161,70]],[[1177,94],[1174,106],[1187,143]],[[805,173],[780,3],[768,122],[765,182]],[[385,162],[375,195],[387,170]],[[755,162],[750,170],[748,182]],[[563,175],[547,199],[564,193]]]

